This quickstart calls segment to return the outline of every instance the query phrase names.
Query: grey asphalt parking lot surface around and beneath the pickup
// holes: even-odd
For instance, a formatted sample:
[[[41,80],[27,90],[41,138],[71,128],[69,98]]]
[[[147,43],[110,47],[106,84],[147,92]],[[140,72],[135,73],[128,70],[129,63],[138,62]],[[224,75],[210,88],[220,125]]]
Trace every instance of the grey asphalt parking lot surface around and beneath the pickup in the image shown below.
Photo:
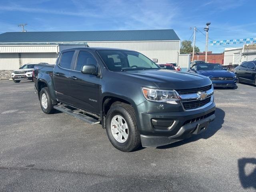
[[[0,81],[0,191],[256,190],[254,86],[215,90],[206,132],[130,153],[101,125],[44,114],[33,86]]]

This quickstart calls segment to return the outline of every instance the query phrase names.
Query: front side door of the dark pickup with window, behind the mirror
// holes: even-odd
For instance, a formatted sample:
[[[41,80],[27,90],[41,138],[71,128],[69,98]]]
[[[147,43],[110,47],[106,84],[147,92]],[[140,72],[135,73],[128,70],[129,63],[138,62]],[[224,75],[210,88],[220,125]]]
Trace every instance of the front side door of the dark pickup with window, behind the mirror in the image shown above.
[[[82,74],[84,65],[95,65],[100,71],[96,58],[89,51],[80,50],[70,72],[70,88],[72,89],[72,105],[96,114],[100,113],[100,77]]]

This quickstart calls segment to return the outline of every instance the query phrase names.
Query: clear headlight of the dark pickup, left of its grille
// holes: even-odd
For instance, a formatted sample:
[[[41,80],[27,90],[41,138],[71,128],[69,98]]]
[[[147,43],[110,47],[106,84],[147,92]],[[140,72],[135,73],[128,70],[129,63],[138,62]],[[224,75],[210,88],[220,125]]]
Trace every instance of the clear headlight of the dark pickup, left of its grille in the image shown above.
[[[179,104],[178,93],[175,90],[159,90],[142,87],[142,93],[150,101]]]

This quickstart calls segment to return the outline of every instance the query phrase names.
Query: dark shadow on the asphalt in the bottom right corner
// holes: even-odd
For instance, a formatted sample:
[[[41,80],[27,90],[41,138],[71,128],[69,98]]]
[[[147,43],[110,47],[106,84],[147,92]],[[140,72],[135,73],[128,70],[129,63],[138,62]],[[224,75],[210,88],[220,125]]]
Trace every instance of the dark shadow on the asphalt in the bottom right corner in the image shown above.
[[[254,166],[249,174],[246,174],[246,164]],[[243,188],[256,189],[256,158],[241,158],[238,159],[239,179]],[[247,169],[248,170],[248,169]]]

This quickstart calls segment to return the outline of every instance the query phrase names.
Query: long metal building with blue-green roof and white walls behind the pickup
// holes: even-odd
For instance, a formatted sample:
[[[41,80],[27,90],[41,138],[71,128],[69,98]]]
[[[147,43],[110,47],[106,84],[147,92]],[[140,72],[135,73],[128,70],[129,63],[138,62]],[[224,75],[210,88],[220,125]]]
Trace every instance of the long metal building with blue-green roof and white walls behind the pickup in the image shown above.
[[[177,62],[186,68],[188,55],[180,55],[174,30],[6,32],[0,34],[0,78],[31,62],[54,64],[61,50],[75,47],[135,50],[158,64]]]

